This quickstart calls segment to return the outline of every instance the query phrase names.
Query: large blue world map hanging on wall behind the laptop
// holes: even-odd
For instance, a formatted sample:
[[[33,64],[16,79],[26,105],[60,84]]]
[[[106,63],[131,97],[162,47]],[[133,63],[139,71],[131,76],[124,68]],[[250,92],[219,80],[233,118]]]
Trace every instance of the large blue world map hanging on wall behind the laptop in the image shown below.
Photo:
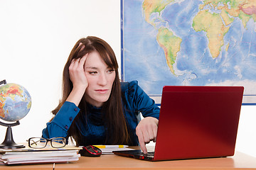
[[[159,103],[162,87],[244,86],[256,104],[255,0],[121,0],[123,81]]]

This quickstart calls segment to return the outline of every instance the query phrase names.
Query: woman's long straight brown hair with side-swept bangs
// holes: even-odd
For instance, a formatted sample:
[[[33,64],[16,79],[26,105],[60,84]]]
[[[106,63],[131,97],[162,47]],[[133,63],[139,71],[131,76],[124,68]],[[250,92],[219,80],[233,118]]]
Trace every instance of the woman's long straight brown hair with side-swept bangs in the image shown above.
[[[75,46],[73,47],[73,50],[71,50],[68,61],[66,62],[63,70],[63,98],[60,100],[57,108],[55,108],[52,113],[53,115],[58,113],[61,106],[63,106],[63,103],[66,101],[73,89],[73,83],[70,80],[70,74],[68,70],[72,60],[81,58],[85,54],[95,50],[99,52],[100,57],[102,57],[102,60],[104,60],[107,66],[115,70],[115,79],[112,85],[110,98],[102,106],[102,111],[105,113],[103,120],[105,120],[105,128],[107,130],[105,143],[112,145],[128,144],[129,135],[127,131],[127,123],[125,121],[124,113],[122,110],[121,86],[117,59],[110,45],[100,38],[88,36],[87,38],[81,38],[78,40],[78,42],[75,43]],[[80,108],[80,113],[78,113],[72,125],[70,126],[70,129],[68,130],[69,135],[73,137],[77,145],[79,145],[78,141],[81,137],[81,133],[75,125],[75,121],[82,118],[82,114],[87,115],[87,102],[85,101],[85,94],[82,97],[78,107]]]

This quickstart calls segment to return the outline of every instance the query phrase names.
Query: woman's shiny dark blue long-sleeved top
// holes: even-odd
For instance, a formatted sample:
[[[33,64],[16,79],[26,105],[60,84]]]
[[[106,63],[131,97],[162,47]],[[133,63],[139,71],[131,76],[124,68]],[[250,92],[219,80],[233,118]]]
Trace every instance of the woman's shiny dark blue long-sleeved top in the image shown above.
[[[159,119],[160,109],[156,106],[154,100],[149,98],[139,87],[137,81],[121,82],[121,89],[124,117],[132,141],[130,145],[139,145],[136,135],[136,127],[140,120],[139,113],[142,113],[143,117]],[[104,113],[101,112],[101,108],[96,108],[90,104],[88,104],[87,108],[87,117],[85,117],[85,114],[82,114],[84,116],[75,122],[75,125],[77,125],[78,130],[82,134],[79,145],[103,145],[107,137],[104,120],[102,120],[102,114]],[[43,129],[43,137],[68,138],[68,129],[79,112],[80,108],[75,106],[74,103],[66,101],[53,120],[46,124],[46,128]]]

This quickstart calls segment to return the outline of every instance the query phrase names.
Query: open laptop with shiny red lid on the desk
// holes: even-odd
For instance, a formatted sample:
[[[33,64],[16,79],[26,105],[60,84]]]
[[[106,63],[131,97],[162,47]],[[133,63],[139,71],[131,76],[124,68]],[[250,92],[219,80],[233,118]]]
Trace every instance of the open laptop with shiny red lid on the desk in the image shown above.
[[[233,156],[242,86],[164,86],[154,153],[114,154],[149,161]]]

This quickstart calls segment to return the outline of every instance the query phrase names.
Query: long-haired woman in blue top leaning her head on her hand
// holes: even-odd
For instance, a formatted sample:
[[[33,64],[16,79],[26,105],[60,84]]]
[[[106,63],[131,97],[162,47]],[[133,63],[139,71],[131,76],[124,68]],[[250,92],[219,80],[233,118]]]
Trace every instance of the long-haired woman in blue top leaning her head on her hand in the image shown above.
[[[144,119],[137,119],[139,112]],[[104,40],[78,40],[63,70],[63,98],[43,137],[73,137],[77,145],[140,145],[156,140],[159,107],[138,86],[121,82]],[[139,122],[139,123],[138,123]]]

